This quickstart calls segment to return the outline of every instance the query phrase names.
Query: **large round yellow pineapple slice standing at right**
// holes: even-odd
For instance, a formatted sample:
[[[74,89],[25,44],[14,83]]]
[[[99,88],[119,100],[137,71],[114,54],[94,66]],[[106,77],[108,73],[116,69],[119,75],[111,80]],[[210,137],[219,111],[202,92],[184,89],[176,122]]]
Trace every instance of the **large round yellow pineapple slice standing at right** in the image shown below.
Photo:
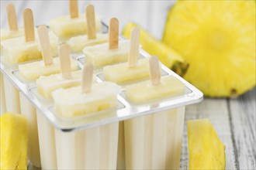
[[[162,41],[189,63],[185,80],[209,97],[235,97],[255,86],[255,2],[178,1]]]

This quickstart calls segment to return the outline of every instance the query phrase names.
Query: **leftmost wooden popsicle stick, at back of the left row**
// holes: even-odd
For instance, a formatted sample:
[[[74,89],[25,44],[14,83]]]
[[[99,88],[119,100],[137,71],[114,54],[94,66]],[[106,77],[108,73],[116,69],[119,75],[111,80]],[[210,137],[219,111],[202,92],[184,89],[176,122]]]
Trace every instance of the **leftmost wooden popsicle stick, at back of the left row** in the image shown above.
[[[7,12],[9,29],[11,31],[18,31],[19,29],[18,29],[18,22],[17,22],[15,6],[12,3],[9,3],[6,6],[6,12]]]

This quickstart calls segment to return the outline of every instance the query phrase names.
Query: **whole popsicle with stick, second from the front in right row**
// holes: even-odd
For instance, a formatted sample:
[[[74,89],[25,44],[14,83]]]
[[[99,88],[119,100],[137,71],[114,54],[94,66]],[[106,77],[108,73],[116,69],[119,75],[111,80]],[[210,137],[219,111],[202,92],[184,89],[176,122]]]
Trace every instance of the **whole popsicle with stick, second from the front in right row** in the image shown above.
[[[103,74],[105,80],[115,83],[124,83],[130,80],[139,80],[149,76],[148,59],[140,59],[140,29],[131,31],[130,53],[128,63],[119,63],[112,66],[104,66]]]

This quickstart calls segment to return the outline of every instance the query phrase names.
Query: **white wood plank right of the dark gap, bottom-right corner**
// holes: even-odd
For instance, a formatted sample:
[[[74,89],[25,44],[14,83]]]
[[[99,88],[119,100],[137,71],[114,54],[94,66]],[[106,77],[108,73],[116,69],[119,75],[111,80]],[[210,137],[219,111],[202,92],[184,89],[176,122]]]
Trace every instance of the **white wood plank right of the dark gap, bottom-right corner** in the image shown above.
[[[230,117],[240,169],[256,169],[256,89],[231,99]]]

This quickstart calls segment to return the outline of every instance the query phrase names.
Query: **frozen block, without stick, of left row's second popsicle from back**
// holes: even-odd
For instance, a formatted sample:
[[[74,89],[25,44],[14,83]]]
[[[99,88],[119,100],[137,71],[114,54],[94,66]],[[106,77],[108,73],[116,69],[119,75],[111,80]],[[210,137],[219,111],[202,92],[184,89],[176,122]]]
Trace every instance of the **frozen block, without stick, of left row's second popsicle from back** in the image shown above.
[[[53,56],[57,55],[57,36],[53,32],[49,32],[50,46]],[[5,63],[22,63],[25,61],[42,58],[38,36],[36,40],[25,42],[25,37],[17,37],[14,39],[7,39],[1,42],[2,45],[2,59]]]

